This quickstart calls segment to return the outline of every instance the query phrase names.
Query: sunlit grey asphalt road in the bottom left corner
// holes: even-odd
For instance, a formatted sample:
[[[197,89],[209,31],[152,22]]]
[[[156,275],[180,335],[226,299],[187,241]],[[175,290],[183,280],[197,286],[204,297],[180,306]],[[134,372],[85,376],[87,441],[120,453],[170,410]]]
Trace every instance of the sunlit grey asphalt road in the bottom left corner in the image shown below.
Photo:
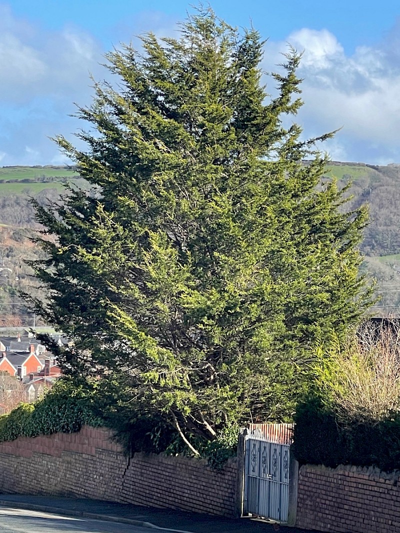
[[[59,514],[0,508],[0,533],[151,533],[150,528]],[[160,530],[168,533],[171,530]]]

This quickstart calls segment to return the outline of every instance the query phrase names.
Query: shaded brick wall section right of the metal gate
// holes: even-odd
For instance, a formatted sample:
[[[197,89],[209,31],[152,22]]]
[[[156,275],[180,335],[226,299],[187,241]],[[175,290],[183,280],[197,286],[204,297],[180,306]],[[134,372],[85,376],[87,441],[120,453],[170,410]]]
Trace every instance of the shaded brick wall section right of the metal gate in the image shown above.
[[[304,465],[296,526],[335,533],[400,531],[400,472]]]

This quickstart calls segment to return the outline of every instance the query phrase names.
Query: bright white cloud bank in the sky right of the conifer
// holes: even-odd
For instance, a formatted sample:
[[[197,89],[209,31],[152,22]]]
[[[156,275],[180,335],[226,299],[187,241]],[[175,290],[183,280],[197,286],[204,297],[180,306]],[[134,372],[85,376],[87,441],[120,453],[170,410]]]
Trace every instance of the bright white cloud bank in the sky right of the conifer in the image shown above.
[[[388,53],[390,43],[361,46],[349,56],[329,31],[307,28],[287,42],[303,51],[299,75],[305,106],[299,118],[306,133],[342,127],[326,145],[335,159],[371,163],[380,151],[381,160],[400,161],[400,62]],[[274,58],[279,48],[283,43],[271,47]]]

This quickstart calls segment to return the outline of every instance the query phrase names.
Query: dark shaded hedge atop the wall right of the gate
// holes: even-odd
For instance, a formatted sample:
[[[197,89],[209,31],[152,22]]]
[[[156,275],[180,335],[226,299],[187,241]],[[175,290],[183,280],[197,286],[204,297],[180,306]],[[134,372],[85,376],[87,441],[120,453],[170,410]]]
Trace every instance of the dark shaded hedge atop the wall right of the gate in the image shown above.
[[[321,398],[310,396],[297,408],[292,451],[301,464],[376,466],[400,470],[400,414],[380,422],[343,425]]]

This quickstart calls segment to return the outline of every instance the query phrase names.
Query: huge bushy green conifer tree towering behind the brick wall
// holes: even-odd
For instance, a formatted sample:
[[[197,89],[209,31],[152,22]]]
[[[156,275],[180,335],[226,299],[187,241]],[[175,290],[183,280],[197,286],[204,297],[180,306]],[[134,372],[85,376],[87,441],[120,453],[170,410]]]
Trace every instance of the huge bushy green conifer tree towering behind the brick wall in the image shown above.
[[[36,204],[57,236],[41,240],[37,311],[75,340],[63,371],[113,409],[162,414],[193,450],[235,423],[290,418],[316,338],[340,338],[369,302],[365,210],[339,212],[333,182],[317,189],[314,146],[330,134],[284,127],[300,58],[285,56],[271,99],[262,47],[207,9],[180,39],[108,53],[117,88],[95,84],[78,112],[87,151],[56,139],[92,190]]]

